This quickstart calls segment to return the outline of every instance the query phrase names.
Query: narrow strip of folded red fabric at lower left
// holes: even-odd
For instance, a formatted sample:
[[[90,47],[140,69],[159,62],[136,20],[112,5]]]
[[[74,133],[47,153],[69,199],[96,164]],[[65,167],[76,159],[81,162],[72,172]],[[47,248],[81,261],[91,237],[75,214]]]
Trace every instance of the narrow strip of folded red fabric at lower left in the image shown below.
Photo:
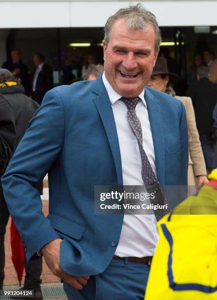
[[[24,270],[24,251],[23,244],[20,233],[18,232],[16,226],[14,225],[14,221],[11,219],[11,252],[12,252],[12,262],[14,264],[14,268],[17,272],[18,280],[21,283],[22,274]]]

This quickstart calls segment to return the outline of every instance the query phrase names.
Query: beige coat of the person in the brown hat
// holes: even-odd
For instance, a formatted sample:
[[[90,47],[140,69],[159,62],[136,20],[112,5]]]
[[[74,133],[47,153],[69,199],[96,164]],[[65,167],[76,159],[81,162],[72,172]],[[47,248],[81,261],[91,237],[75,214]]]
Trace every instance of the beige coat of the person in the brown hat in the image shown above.
[[[182,101],[186,110],[186,119],[188,125],[188,141],[189,141],[188,185],[194,185],[195,184],[194,176],[207,174],[205,160],[203,157],[203,152],[199,140],[199,134],[196,129],[195,111],[190,97],[175,96],[175,98]]]

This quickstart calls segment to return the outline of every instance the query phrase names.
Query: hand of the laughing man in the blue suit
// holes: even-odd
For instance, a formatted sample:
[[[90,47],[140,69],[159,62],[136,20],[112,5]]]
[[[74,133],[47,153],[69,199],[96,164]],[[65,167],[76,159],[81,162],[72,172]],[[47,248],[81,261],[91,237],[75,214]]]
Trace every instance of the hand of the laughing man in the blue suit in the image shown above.
[[[48,268],[54,275],[60,277],[64,282],[72,285],[75,289],[81,290],[87,284],[89,276],[76,277],[65,273],[60,267],[60,243],[62,239],[56,239],[43,246],[41,252]]]

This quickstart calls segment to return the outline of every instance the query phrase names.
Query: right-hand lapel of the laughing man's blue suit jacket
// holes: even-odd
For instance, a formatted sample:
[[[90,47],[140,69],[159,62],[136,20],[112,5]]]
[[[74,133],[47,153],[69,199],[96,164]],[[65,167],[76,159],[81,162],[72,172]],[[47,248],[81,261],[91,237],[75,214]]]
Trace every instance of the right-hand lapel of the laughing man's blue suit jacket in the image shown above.
[[[165,174],[165,141],[164,141],[164,126],[160,107],[152,93],[145,88],[145,100],[149,113],[149,120],[152,129],[152,139],[154,145],[154,154],[157,170],[157,179],[161,185],[164,185]]]

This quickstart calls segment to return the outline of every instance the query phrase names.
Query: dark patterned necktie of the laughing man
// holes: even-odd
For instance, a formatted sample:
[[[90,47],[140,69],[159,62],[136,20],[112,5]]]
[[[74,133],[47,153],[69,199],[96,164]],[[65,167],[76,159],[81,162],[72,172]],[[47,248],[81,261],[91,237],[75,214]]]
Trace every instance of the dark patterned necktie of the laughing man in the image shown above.
[[[141,99],[139,97],[136,98],[122,97],[120,98],[120,100],[122,100],[128,108],[128,113],[127,113],[128,121],[138,142],[139,151],[142,160],[142,171],[141,171],[142,180],[144,182],[144,185],[146,186],[148,193],[151,194],[152,192],[155,192],[154,199],[150,199],[150,201],[153,205],[159,204],[159,205],[164,205],[166,207],[163,209],[154,210],[155,217],[158,221],[164,215],[171,212],[171,208],[164,196],[164,192],[156,178],[156,175],[153,172],[152,166],[149,162],[146,152],[143,149],[142,126],[135,112],[136,105]]]

